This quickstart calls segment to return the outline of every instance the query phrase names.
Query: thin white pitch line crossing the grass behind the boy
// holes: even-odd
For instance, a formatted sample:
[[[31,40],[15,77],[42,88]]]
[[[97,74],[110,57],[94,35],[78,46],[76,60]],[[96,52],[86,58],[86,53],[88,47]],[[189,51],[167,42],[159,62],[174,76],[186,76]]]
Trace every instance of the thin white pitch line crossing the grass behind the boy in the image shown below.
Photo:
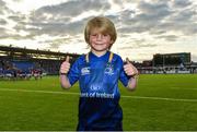
[[[0,88],[0,91],[4,91],[4,92],[40,93],[40,94],[80,95],[80,93],[73,93],[73,92],[53,92],[53,91],[11,89],[11,88]],[[127,95],[121,95],[121,98],[136,98],[136,99],[152,99],[152,100],[170,100],[170,101],[197,103],[197,99],[163,98],[163,97],[148,97],[148,96],[146,97],[146,96],[127,96]]]

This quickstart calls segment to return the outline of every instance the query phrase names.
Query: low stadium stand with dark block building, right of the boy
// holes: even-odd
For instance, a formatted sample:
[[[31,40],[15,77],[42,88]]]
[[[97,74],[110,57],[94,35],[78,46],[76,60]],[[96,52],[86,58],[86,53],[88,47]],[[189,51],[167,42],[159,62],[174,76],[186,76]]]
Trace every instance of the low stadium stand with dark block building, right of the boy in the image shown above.
[[[188,74],[197,73],[197,63],[192,61],[190,52],[157,53],[138,69],[144,74]]]

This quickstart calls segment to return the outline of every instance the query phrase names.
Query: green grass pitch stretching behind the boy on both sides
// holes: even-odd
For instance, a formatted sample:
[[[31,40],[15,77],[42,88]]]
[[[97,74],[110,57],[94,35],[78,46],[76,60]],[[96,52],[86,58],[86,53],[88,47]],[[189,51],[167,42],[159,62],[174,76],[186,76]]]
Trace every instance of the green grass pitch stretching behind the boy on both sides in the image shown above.
[[[119,86],[125,131],[197,130],[197,74],[140,75],[135,92]],[[0,81],[0,131],[76,130],[79,95],[44,92],[79,87],[61,89],[58,76]]]

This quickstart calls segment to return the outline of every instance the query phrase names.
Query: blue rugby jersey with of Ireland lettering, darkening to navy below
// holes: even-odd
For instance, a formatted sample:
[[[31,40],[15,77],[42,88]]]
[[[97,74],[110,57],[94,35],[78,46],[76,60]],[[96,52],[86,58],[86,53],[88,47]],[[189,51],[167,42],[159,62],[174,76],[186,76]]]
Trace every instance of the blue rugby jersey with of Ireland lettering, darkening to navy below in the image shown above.
[[[127,86],[128,77],[124,62],[118,55],[107,51],[102,57],[90,52],[81,56],[71,67],[68,79],[73,85],[79,81],[79,131],[116,130],[120,131],[123,111],[118,104],[120,94],[118,80]],[[88,59],[85,59],[88,57]]]

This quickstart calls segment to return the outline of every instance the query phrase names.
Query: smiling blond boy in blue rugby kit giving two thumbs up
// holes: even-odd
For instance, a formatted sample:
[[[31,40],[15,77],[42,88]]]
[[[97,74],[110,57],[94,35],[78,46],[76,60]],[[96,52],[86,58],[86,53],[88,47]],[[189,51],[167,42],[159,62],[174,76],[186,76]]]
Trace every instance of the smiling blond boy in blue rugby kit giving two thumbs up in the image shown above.
[[[71,67],[69,57],[60,67],[60,83],[69,88],[80,84],[78,131],[123,131],[123,111],[119,106],[118,80],[135,89],[138,70],[109,51],[116,40],[114,24],[106,17],[90,20],[84,29],[85,41],[91,47]]]

